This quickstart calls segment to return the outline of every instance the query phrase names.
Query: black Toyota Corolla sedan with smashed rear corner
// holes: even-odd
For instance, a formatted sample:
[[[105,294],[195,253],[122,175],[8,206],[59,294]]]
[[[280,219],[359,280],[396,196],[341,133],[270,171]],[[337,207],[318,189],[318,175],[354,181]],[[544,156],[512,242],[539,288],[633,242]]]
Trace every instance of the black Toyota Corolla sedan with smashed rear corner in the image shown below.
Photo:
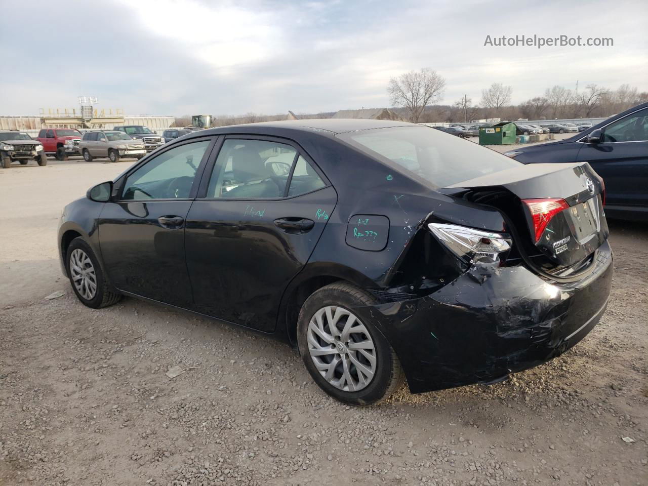
[[[65,275],[255,329],[353,405],[491,383],[569,349],[612,283],[601,179],[417,124],[202,130],[67,205]]]

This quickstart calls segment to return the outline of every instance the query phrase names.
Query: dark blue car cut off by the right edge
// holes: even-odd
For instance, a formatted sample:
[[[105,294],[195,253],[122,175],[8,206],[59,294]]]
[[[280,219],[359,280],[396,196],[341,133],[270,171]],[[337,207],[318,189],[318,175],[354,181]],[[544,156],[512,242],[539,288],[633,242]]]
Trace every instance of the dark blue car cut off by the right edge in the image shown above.
[[[507,152],[529,163],[587,161],[605,181],[605,213],[648,221],[648,103],[573,137]]]

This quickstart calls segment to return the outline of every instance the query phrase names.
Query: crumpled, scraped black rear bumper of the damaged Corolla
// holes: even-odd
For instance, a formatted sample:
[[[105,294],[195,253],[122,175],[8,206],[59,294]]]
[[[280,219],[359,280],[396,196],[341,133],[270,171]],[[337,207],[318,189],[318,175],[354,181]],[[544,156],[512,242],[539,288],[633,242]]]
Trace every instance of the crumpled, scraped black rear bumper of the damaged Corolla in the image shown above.
[[[376,323],[400,359],[412,393],[492,382],[564,353],[607,306],[612,252],[573,284],[549,283],[524,266],[473,267],[421,299],[355,308]]]

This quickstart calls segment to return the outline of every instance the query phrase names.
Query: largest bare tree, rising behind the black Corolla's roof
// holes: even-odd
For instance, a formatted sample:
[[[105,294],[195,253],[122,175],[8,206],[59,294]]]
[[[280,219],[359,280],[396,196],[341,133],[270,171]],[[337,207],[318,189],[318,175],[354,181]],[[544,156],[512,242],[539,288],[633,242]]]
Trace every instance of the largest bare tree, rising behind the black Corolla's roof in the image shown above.
[[[391,102],[406,108],[410,121],[418,122],[428,104],[443,98],[445,79],[429,67],[421,71],[410,71],[397,78],[391,78],[387,93]]]

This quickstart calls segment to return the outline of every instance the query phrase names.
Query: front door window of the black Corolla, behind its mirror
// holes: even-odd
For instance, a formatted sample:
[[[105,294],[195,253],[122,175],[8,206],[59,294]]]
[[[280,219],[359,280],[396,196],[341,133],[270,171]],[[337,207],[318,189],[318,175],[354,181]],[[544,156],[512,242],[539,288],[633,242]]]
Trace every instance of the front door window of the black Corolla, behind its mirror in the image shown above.
[[[167,150],[130,174],[122,200],[189,198],[209,140]]]

